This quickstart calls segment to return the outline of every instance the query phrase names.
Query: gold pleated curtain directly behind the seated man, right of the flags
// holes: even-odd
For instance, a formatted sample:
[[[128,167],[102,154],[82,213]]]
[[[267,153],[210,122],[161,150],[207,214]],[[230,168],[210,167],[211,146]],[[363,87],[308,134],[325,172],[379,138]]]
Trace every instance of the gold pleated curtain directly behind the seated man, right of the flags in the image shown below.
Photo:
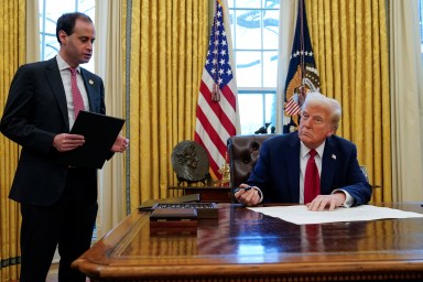
[[[391,140],[386,0],[306,0],[321,91],[343,107],[337,134],[357,144],[376,188],[391,202]]]

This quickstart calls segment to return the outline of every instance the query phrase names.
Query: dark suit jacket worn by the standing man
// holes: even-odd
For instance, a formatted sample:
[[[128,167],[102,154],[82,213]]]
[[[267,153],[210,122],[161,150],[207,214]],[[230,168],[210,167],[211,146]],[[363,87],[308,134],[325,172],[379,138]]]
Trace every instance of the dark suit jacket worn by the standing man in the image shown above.
[[[99,76],[80,68],[89,110],[106,113]],[[0,131],[22,147],[9,197],[20,203],[51,205],[63,194],[68,169],[53,147],[57,133],[69,132],[66,95],[56,58],[21,66],[12,80]],[[86,173],[97,189],[97,171]]]

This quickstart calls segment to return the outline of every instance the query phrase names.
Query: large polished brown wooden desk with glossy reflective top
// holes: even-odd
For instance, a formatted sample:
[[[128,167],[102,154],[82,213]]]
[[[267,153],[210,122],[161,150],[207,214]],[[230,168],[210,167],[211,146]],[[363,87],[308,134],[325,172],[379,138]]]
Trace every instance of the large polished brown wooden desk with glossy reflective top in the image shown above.
[[[149,213],[133,213],[73,265],[91,281],[423,280],[423,218],[310,225],[318,232],[307,237],[305,226],[220,207],[196,236],[150,236]]]

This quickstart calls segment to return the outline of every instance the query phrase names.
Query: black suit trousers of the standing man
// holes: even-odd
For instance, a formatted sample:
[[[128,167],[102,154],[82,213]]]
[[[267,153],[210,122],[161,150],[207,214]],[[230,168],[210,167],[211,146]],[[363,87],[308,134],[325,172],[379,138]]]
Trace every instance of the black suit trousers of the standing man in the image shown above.
[[[69,169],[65,192],[56,204],[22,204],[20,281],[45,282],[56,247],[58,281],[85,281],[70,263],[90,247],[97,209],[96,180],[93,170],[84,169]]]

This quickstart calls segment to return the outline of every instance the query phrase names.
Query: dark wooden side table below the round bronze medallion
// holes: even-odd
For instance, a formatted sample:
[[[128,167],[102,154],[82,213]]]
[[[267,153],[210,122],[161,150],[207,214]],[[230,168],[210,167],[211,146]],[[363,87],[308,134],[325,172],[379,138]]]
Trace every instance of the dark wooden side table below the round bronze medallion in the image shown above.
[[[183,191],[184,195],[199,194],[200,202],[230,203],[231,188],[215,186],[170,186],[169,191]],[[171,195],[176,196],[176,195]]]

